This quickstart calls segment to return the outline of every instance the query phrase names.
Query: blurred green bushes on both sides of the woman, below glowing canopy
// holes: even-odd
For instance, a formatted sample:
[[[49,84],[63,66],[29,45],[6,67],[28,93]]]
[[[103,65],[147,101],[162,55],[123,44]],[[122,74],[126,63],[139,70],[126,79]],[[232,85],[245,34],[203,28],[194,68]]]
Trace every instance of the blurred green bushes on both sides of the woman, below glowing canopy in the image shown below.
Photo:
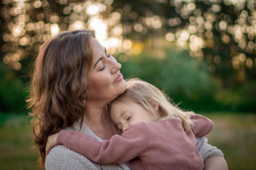
[[[165,53],[163,58],[146,51],[128,56],[121,72],[125,78],[139,77],[164,90],[175,104],[186,110],[255,113],[256,81],[223,88],[221,80],[209,72],[207,64],[188,57],[187,51],[176,53],[166,49]],[[26,71],[17,72],[0,63],[0,111],[27,112],[29,77],[19,76]]]

